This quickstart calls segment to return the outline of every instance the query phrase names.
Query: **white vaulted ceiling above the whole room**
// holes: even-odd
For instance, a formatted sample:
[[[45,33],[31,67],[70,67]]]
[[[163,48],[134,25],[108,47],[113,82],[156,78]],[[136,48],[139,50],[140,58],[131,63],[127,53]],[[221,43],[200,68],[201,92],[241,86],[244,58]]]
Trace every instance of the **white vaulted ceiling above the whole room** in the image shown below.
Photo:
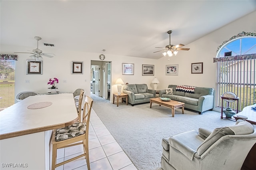
[[[35,49],[34,36],[40,36],[45,53],[55,48],[158,59],[162,53],[153,52],[169,44],[168,30],[171,44],[189,48],[255,10],[255,0],[1,0],[0,38],[30,47],[19,52]]]

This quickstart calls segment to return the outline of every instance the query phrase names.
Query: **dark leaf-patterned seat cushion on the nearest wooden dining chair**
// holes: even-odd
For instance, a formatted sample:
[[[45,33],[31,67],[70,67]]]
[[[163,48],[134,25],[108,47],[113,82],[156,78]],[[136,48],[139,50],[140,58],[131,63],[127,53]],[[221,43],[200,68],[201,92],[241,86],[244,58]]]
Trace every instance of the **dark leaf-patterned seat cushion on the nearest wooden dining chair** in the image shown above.
[[[69,138],[74,138],[81,134],[84,134],[86,131],[86,125],[84,123],[74,123],[67,127],[58,128],[56,130],[55,140],[61,141]]]

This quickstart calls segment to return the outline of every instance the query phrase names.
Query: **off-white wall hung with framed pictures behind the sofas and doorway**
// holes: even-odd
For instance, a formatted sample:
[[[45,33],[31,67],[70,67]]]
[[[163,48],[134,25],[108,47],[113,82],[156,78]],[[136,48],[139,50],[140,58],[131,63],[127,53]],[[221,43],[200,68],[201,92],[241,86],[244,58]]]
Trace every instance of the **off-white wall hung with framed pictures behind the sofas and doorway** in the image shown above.
[[[179,51],[176,56],[162,57],[156,59],[137,58],[129,56],[119,56],[104,54],[106,61],[112,61],[111,85],[112,93],[117,93],[116,79],[122,78],[124,83],[146,83],[149,89],[153,89],[151,81],[157,77],[158,90],[165,89],[169,84],[174,85],[191,85],[198,87],[212,87],[216,89],[216,63],[213,58],[216,57],[216,49],[225,40],[234,35],[244,32],[255,32],[256,30],[256,12],[244,16],[190,44],[185,47],[189,51]],[[218,21],[213,21],[218,22]],[[202,23],[203,26],[203,23]],[[182,42],[180,42],[182,43]],[[16,51],[26,51],[34,47],[22,47],[12,45],[2,45],[2,54],[14,54]],[[44,47],[40,48],[45,52]],[[15,93],[20,91],[38,91],[39,93],[49,92],[47,85],[48,79],[57,77],[60,83],[57,84],[58,91],[74,92],[75,89],[82,88],[90,91],[90,65],[91,60],[99,60],[99,53],[84,53],[81,51],[68,51],[53,49],[56,56],[53,58],[44,57],[42,75],[26,75],[26,59],[30,59],[29,54],[18,54],[16,61],[16,85]],[[162,55],[159,53],[159,55]],[[71,74],[71,61],[84,62],[84,74]],[[203,74],[191,74],[191,63],[203,62]],[[134,63],[134,75],[122,75],[122,63]],[[155,65],[154,76],[142,76],[142,64]],[[178,75],[165,75],[165,65],[178,64]],[[25,83],[30,80],[30,83]],[[66,80],[66,83],[63,83]],[[86,82],[85,82],[86,80]],[[89,94],[87,94],[89,95]],[[110,95],[112,97],[112,95]],[[110,99],[110,101],[112,101]]]

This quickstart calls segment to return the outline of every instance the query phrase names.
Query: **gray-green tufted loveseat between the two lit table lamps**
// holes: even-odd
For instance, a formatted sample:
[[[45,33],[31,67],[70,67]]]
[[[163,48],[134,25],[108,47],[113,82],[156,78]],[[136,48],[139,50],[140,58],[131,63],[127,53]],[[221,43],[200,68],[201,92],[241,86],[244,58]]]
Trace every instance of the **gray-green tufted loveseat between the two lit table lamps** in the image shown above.
[[[132,106],[148,103],[150,98],[156,97],[156,90],[148,89],[146,84],[123,85],[123,93],[128,94],[128,103]]]

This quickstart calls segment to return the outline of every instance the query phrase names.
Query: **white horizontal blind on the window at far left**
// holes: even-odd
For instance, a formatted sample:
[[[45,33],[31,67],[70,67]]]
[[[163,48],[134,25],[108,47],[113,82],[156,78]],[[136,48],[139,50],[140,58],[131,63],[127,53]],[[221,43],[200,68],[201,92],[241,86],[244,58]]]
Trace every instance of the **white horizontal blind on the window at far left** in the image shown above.
[[[0,60],[0,111],[15,102],[15,60]]]

